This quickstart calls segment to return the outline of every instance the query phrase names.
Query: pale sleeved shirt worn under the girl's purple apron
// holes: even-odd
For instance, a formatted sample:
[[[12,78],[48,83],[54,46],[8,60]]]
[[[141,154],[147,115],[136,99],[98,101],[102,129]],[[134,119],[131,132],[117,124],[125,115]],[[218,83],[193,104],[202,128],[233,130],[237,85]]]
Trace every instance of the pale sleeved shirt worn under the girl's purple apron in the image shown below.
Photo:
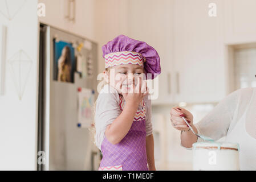
[[[146,109],[145,122],[148,136],[152,134],[151,100],[148,100],[147,96],[143,99]],[[100,150],[105,137],[105,129],[121,114],[119,103],[120,98],[117,90],[112,86],[104,85],[97,97],[95,107],[95,144]]]

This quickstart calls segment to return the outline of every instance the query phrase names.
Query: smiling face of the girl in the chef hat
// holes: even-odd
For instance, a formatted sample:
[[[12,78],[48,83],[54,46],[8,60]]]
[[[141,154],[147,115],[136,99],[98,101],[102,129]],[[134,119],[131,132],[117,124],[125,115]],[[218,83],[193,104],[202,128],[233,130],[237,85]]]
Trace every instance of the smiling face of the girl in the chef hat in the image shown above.
[[[141,80],[145,78],[143,67],[136,64],[116,65],[103,73],[105,81],[115,87],[118,93],[128,93],[133,85],[137,85],[137,77],[141,77]]]

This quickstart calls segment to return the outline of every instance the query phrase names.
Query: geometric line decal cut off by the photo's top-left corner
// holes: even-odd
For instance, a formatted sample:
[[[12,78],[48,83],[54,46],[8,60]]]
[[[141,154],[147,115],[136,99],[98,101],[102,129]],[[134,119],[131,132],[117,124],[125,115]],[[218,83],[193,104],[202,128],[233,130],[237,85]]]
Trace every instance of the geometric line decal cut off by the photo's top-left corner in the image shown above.
[[[0,1],[0,14],[5,16],[8,20],[12,20],[19,10],[26,3],[27,0],[1,0]]]

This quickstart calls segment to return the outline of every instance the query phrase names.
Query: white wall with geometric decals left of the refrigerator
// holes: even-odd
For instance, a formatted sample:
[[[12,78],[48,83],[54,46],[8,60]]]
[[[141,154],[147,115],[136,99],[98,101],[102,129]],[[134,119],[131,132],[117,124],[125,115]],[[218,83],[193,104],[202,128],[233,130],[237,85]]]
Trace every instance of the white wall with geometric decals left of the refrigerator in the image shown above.
[[[4,2],[1,0],[2,12],[7,10]],[[7,2],[10,14],[14,14],[23,1]],[[37,1],[27,0],[12,20],[0,14],[0,26],[4,24],[8,28],[5,95],[0,96],[0,170],[36,169],[38,109],[38,17],[36,11]],[[20,100],[9,59],[21,49],[30,57],[32,64],[30,72],[26,75],[29,65],[22,63],[21,76],[19,76],[18,61],[14,63],[17,82],[19,78],[23,82],[28,76],[23,97]],[[21,59],[25,58],[24,55],[21,57]]]

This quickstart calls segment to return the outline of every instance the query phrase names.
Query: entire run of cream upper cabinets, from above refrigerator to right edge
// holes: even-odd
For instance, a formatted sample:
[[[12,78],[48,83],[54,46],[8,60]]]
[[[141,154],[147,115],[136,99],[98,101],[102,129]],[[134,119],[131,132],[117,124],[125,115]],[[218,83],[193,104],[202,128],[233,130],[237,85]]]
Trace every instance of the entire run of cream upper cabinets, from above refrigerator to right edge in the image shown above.
[[[64,17],[67,1],[41,0],[46,17],[40,20],[97,39],[100,72],[100,47],[117,35],[156,48],[162,68],[156,105],[219,102],[229,93],[226,44],[256,41],[255,0],[76,0],[75,22]],[[208,14],[210,3],[216,17]]]

